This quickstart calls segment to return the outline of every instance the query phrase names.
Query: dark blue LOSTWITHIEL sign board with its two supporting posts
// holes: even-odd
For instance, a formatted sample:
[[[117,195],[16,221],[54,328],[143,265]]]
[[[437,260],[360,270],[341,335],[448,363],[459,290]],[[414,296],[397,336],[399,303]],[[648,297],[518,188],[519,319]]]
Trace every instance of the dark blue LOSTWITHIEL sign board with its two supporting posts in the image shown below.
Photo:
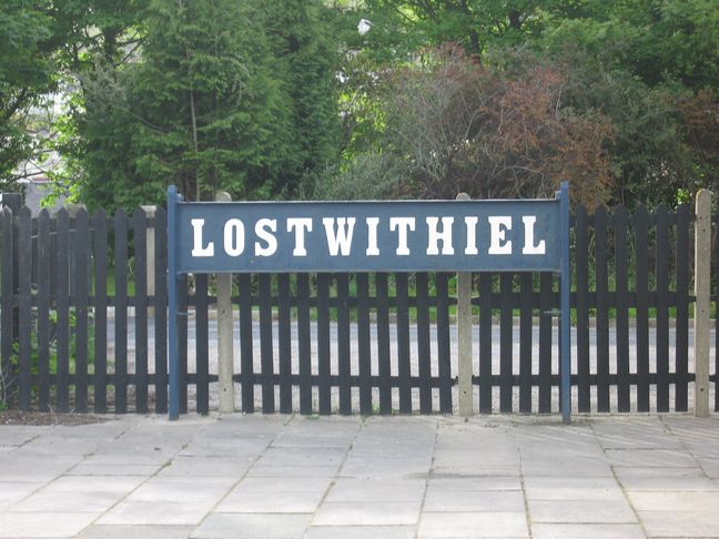
[[[555,200],[417,202],[188,203],[171,186],[168,241],[171,419],[179,415],[183,274],[550,271],[561,275],[561,409],[569,420],[566,183]]]

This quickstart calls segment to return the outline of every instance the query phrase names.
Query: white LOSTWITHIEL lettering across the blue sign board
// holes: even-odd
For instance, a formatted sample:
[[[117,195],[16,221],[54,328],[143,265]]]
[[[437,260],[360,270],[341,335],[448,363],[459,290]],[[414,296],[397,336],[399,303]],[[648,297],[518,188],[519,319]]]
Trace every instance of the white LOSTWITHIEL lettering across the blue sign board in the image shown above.
[[[515,246],[516,251],[519,250],[519,226],[524,228],[521,255],[547,254],[547,238],[537,237],[537,215],[490,215],[486,217],[484,225],[479,223],[480,217],[477,215],[436,215],[421,218],[426,223],[426,236],[425,230],[417,230],[417,217],[414,216],[286,217],[284,223],[281,218],[257,216],[254,217],[254,222],[247,222],[244,217],[232,217],[224,222],[221,237],[206,237],[207,231],[217,234],[215,231],[219,223],[205,226],[205,218],[191,218],[191,254],[196,258],[213,257],[215,243],[222,241],[223,254],[230,257],[271,257],[280,251],[287,254],[291,251],[292,256],[328,254],[332,257],[350,257],[355,254],[376,257],[381,256],[381,251],[387,253],[393,247],[396,256],[412,256],[414,253],[411,244],[426,241],[426,250],[423,245],[423,252],[418,253],[422,256],[453,256],[457,251],[464,256],[482,256],[485,255],[485,248],[486,255],[502,256],[513,255]],[[321,220],[323,226],[317,226],[315,220]],[[463,220],[464,226],[458,225],[455,228],[455,220]],[[283,226],[285,230],[282,230]],[[515,230],[517,232],[513,236],[512,231]],[[414,243],[411,242],[409,234],[414,234]],[[382,241],[385,244],[388,242],[389,245],[381,245]],[[362,243],[362,246],[357,247],[353,242]],[[326,251],[323,245],[326,245]],[[308,253],[308,248],[314,252]],[[364,253],[356,253],[358,248]]]

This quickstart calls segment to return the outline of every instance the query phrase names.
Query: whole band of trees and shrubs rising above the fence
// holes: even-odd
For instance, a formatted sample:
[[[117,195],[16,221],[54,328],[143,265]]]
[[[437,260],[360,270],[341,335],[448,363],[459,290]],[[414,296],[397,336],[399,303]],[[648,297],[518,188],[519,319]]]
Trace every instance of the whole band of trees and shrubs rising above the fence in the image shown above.
[[[6,0],[0,52],[1,189],[93,206],[718,187],[715,0]]]

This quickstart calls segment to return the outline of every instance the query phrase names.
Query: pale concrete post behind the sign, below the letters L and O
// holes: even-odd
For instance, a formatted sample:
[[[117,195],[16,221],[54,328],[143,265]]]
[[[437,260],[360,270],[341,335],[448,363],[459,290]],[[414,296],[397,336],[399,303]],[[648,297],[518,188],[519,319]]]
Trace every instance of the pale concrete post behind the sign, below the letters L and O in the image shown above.
[[[229,193],[217,193],[217,202],[230,202]],[[217,274],[217,378],[220,385],[220,413],[234,411],[234,322],[232,313],[232,274]]]

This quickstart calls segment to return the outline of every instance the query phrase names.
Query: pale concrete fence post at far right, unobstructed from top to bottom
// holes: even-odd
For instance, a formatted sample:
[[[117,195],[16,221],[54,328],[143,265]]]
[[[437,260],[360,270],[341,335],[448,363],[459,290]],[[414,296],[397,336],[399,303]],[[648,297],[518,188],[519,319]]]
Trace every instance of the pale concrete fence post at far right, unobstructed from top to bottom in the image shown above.
[[[695,416],[709,416],[711,193],[697,193],[695,223]]]

